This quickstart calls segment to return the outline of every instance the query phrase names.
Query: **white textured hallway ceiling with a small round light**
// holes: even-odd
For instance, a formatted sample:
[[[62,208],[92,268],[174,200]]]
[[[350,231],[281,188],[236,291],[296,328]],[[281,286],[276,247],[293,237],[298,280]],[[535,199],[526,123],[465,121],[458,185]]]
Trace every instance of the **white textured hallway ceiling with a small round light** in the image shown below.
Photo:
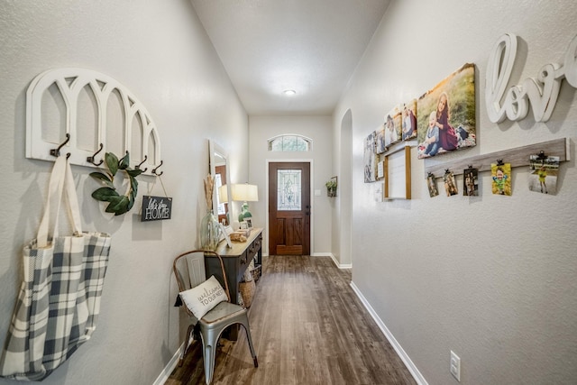
[[[389,0],[191,0],[249,115],[330,115]],[[294,89],[294,96],[283,90]]]

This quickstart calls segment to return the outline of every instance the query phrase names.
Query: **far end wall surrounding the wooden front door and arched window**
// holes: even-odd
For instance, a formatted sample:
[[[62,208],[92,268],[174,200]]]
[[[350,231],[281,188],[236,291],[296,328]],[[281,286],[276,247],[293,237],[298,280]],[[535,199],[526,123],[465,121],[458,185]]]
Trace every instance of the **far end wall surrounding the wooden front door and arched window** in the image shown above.
[[[331,206],[334,198],[326,197],[325,182],[334,176],[331,160],[332,120],[330,116],[251,116],[249,119],[250,183],[259,187],[259,202],[250,204],[253,225],[266,226],[267,175],[268,163],[278,160],[312,160],[311,194],[311,253],[328,254],[331,252]],[[313,151],[309,152],[272,152],[268,151],[268,140],[279,134],[293,133],[307,136],[313,140]],[[234,182],[234,180],[233,180]],[[243,182],[243,181],[241,181]],[[321,196],[315,197],[314,190],[320,189]],[[262,239],[262,251],[269,253],[269,234],[265,229]]]

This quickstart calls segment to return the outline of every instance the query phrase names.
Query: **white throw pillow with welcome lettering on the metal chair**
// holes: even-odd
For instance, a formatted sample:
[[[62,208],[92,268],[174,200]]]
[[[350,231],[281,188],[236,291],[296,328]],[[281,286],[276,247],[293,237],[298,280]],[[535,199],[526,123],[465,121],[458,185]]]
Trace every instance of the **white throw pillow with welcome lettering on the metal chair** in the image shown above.
[[[214,275],[197,287],[182,291],[179,294],[197,319],[205,316],[219,303],[228,300],[223,287]]]

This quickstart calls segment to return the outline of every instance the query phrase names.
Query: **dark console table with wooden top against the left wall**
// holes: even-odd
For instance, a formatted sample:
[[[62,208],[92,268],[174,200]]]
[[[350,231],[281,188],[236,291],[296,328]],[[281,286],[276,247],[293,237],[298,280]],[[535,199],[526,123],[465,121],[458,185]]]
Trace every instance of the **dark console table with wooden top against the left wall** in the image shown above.
[[[238,304],[239,283],[243,280],[244,271],[249,267],[254,257],[256,257],[256,266],[262,263],[262,229],[253,227],[246,242],[233,242],[232,248],[228,247],[226,241],[222,241],[218,243],[215,252],[223,258],[231,302]],[[205,268],[206,278],[214,275],[217,280],[224,281],[218,258],[206,255]],[[233,335],[235,337],[236,333],[233,332]]]

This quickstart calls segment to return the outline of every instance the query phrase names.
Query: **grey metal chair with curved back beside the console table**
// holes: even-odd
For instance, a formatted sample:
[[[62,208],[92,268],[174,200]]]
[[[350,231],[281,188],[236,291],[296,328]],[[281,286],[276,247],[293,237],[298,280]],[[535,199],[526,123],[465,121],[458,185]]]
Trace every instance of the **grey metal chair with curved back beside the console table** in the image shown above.
[[[206,313],[206,315],[201,319],[197,319],[197,317],[192,314],[192,311],[190,311],[186,304],[184,302],[182,303],[183,307],[187,311],[188,316],[190,317],[190,325],[188,325],[184,348],[180,353],[179,366],[182,366],[184,356],[188,350],[188,344],[190,344],[190,337],[195,330],[195,326],[198,325],[203,344],[206,384],[210,384],[213,379],[213,372],[215,371],[216,344],[224,332],[224,329],[230,325],[243,325],[244,330],[246,331],[246,338],[249,342],[249,348],[251,349],[252,360],[254,362],[255,368],[259,367],[259,362],[257,361],[256,353],[254,353],[254,347],[252,346],[251,329],[249,327],[247,310],[244,307],[231,303],[231,295],[228,289],[223,259],[218,253],[194,250],[191,252],[184,252],[176,257],[172,264],[172,270],[174,270],[174,275],[176,276],[177,283],[179,285],[179,292],[195,288],[197,285],[206,280],[206,254],[215,255],[218,258],[218,261],[220,261],[222,277],[224,280],[224,291],[226,292],[228,302],[219,303],[215,308]],[[223,282],[221,282],[221,284],[222,283]]]

